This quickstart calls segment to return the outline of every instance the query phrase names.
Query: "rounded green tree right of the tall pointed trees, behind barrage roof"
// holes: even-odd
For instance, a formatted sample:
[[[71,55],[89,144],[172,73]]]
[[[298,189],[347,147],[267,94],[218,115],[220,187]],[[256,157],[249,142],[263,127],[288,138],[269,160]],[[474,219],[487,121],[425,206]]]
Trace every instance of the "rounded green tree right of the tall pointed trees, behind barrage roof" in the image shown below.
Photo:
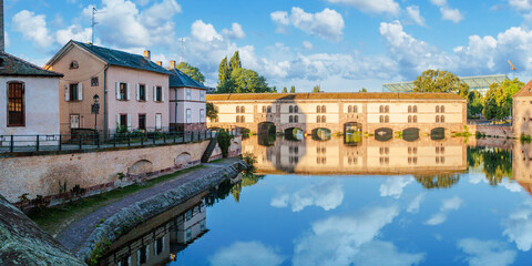
[[[268,83],[266,83],[266,79],[253,70],[235,69],[231,74],[231,79],[235,82],[236,93],[272,92]]]

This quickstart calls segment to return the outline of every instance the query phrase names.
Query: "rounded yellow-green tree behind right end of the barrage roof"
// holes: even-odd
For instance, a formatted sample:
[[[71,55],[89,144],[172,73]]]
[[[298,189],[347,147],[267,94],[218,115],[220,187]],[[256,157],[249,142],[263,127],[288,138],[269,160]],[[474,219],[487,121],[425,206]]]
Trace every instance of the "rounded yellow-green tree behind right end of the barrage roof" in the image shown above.
[[[426,70],[413,81],[413,92],[453,92],[467,99],[469,85],[449,71]]]

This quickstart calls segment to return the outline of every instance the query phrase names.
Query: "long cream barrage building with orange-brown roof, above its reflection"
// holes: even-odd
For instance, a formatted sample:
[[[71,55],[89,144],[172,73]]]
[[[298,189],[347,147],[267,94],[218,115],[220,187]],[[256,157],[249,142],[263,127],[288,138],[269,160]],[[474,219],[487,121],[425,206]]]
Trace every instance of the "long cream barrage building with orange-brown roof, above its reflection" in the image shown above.
[[[375,133],[419,129],[430,134],[462,132],[467,124],[467,101],[452,93],[245,93],[209,94],[218,119],[207,120],[211,127],[245,127],[259,132],[275,124],[277,132],[316,129],[345,133],[356,129]]]

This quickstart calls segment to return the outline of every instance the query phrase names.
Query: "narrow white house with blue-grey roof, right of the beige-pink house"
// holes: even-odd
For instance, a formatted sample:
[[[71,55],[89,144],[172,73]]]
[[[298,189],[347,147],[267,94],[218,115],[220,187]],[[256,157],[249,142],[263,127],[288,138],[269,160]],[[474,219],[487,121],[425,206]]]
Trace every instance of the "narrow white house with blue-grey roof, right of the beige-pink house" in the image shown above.
[[[170,127],[175,131],[206,130],[207,88],[181,72],[170,62]]]

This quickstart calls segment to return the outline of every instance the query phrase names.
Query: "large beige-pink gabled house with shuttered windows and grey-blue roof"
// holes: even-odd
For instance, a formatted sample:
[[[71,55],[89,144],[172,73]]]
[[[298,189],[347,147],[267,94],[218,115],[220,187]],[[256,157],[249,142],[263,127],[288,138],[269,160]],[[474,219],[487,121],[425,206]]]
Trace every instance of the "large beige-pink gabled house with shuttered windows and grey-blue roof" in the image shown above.
[[[70,41],[45,65],[61,72],[61,133],[91,129],[162,131],[168,129],[170,72],[144,55]],[[100,110],[92,113],[94,98]]]

